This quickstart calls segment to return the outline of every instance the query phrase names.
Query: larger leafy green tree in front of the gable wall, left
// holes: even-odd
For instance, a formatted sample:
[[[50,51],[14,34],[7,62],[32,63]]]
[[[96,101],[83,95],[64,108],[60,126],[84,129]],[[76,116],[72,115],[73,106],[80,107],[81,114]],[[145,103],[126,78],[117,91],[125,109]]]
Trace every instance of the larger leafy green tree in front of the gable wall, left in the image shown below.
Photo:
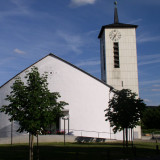
[[[10,95],[6,97],[9,105],[2,106],[0,111],[8,114],[10,121],[19,122],[18,132],[26,131],[31,135],[29,159],[33,160],[34,136],[62,116],[62,109],[67,103],[58,101],[58,92],[49,91],[47,73],[40,76],[38,68],[32,67],[25,80],[24,83],[20,77],[15,79]]]

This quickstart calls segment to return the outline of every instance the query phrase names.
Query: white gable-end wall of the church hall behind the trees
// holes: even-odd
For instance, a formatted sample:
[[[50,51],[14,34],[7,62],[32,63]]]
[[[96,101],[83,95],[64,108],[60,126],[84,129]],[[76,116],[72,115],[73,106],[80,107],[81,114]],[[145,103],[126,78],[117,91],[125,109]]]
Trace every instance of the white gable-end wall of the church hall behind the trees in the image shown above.
[[[110,88],[107,85],[55,56],[49,55],[36,63],[35,66],[39,68],[41,74],[48,72],[50,91],[59,92],[60,100],[69,103],[65,110],[69,111],[69,129],[72,135],[122,139],[121,135],[113,134],[109,122],[105,121],[104,110],[107,108],[110,96]],[[20,73],[22,80],[24,80],[24,75],[25,72]],[[4,101],[4,98],[10,93],[10,86],[13,82],[14,79],[0,88],[0,105],[8,103]],[[8,127],[9,131],[8,117],[4,113],[0,114],[0,131],[4,127]],[[63,130],[63,120],[60,125]],[[68,129],[67,127],[66,120],[66,129]]]

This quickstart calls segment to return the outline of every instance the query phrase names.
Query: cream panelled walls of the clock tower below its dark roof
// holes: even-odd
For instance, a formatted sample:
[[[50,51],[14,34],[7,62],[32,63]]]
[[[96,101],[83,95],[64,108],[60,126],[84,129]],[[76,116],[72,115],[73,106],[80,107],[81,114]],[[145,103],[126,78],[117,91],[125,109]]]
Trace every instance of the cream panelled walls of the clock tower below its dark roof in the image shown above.
[[[121,34],[120,39],[113,41],[110,38],[113,30]],[[115,89],[131,89],[139,94],[135,28],[106,28],[100,41],[102,80]],[[119,44],[119,68],[114,67],[115,42]],[[103,66],[104,63],[106,67]]]

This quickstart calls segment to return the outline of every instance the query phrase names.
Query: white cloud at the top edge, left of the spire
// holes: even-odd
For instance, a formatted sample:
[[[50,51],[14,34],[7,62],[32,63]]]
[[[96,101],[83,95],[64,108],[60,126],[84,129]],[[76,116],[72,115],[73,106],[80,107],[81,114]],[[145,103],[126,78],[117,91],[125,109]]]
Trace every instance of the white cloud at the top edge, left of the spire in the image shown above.
[[[87,4],[94,4],[97,0],[71,0],[71,7],[79,7]]]

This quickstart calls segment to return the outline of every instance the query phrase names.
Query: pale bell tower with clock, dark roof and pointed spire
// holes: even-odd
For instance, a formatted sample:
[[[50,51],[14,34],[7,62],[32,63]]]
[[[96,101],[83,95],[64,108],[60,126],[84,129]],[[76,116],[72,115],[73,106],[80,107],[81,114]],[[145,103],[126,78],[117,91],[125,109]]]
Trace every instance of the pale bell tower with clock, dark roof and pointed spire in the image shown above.
[[[101,80],[115,89],[131,89],[139,94],[136,28],[119,22],[114,2],[114,23],[102,26],[100,39]]]

